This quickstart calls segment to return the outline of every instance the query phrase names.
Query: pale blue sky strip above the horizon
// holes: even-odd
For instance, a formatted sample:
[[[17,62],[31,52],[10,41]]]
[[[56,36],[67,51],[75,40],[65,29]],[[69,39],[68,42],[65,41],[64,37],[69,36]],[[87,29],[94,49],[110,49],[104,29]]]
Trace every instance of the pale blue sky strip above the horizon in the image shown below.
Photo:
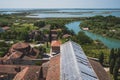
[[[120,0],[0,0],[0,8],[120,8]]]

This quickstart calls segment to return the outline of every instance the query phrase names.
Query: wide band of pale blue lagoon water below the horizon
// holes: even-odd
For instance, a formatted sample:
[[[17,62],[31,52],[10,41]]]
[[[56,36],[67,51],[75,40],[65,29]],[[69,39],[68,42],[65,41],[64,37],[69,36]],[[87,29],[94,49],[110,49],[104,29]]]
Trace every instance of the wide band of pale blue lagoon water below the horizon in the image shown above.
[[[29,13],[30,18],[92,17],[96,15],[120,17],[120,9],[0,9],[0,14]]]

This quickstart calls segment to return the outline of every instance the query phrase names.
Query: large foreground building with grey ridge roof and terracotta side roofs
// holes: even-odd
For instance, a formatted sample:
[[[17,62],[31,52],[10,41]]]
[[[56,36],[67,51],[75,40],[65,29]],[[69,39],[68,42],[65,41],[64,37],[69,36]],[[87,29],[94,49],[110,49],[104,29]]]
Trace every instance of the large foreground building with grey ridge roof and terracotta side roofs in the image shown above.
[[[46,80],[110,80],[101,64],[88,59],[81,46],[68,41],[49,62]]]

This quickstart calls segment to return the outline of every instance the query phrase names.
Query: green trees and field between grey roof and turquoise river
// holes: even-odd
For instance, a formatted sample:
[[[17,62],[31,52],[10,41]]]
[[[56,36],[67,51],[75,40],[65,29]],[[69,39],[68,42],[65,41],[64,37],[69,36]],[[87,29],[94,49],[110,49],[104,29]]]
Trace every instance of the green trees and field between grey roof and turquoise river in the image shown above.
[[[109,49],[99,40],[91,40],[84,32],[79,32],[71,39],[82,46],[87,56],[99,59],[102,65],[108,65]]]

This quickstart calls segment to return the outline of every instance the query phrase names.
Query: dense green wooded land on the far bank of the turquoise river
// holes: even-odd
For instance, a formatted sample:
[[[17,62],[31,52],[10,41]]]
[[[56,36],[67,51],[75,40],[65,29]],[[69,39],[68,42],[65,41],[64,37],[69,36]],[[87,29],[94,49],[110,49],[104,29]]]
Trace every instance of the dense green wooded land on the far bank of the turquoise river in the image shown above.
[[[120,40],[120,18],[114,16],[95,16],[84,20],[81,27],[88,27],[89,31],[103,36]]]

